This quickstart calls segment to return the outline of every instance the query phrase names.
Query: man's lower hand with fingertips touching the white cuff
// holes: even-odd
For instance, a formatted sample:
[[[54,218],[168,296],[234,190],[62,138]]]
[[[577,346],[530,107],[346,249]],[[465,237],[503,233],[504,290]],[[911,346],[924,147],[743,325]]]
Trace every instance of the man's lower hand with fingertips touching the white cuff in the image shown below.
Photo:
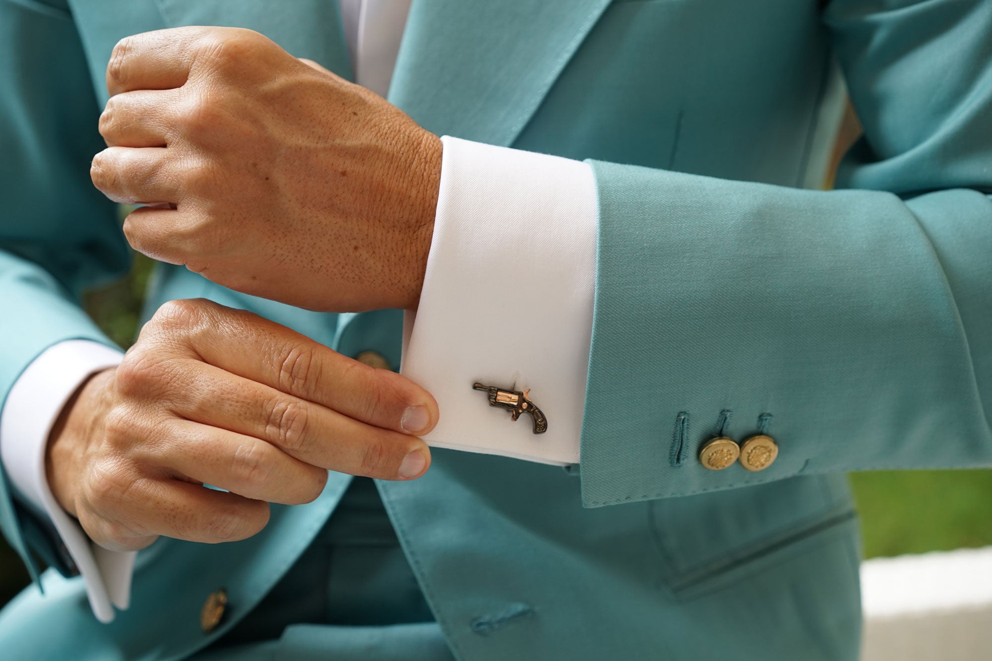
[[[436,422],[434,398],[399,374],[250,313],[174,301],[66,407],[49,483],[108,549],[233,541],[265,526],[268,503],[316,498],[327,469],[420,476],[431,453],[413,435]]]

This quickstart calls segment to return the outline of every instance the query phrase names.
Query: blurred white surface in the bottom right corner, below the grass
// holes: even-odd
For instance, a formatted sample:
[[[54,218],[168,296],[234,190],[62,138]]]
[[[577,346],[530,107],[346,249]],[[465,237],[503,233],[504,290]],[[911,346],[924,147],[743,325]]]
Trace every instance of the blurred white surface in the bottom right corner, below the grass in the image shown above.
[[[861,566],[862,661],[992,659],[992,547]]]

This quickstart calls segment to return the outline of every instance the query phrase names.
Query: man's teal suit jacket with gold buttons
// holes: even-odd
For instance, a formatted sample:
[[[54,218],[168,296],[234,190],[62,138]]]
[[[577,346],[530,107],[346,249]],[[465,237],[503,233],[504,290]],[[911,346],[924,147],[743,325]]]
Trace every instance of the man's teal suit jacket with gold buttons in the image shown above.
[[[51,344],[107,341],[77,305],[128,260],[87,177],[104,68],[118,39],[187,24],[348,75],[329,0],[0,2],[0,396]],[[834,62],[865,137],[845,190],[804,190]],[[438,134],[591,159],[598,188],[580,465],[438,450],[423,478],[378,484],[454,655],[855,658],[842,473],[992,461],[992,3],[417,0],[390,100]],[[158,271],[148,311],[198,296],[399,358],[395,311],[304,312],[182,268]],[[721,412],[778,461],[704,469]],[[3,648],[189,654],[279,581],[348,480],[243,542],[160,540],[109,625],[50,570],[3,611]],[[0,489],[34,571],[29,519]],[[205,635],[220,586],[229,618]]]

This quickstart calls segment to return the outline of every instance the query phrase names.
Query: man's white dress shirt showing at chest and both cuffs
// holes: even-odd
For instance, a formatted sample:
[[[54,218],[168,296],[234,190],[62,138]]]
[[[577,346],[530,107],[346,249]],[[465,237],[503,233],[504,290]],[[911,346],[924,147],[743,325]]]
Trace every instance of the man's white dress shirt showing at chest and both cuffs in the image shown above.
[[[339,0],[354,79],[385,96],[410,0]],[[592,329],[597,231],[592,169],[581,162],[442,138],[440,192],[420,305],[408,313],[402,372],[437,400],[431,446],[576,463]],[[0,460],[14,492],[47,514],[79,568],[94,614],[126,608],[134,552],[102,549],[56,501],[48,437],[84,380],[121,353],[68,340],[39,355],[0,411]],[[472,383],[531,389],[548,418],[490,407]]]

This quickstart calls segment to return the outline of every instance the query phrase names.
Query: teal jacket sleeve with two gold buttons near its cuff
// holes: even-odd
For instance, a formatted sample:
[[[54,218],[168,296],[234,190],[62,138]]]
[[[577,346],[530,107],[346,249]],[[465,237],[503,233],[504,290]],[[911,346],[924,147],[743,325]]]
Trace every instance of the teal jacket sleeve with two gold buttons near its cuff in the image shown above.
[[[989,198],[593,168],[586,505],[992,462]],[[706,469],[721,426],[738,442],[764,427],[777,461]]]

